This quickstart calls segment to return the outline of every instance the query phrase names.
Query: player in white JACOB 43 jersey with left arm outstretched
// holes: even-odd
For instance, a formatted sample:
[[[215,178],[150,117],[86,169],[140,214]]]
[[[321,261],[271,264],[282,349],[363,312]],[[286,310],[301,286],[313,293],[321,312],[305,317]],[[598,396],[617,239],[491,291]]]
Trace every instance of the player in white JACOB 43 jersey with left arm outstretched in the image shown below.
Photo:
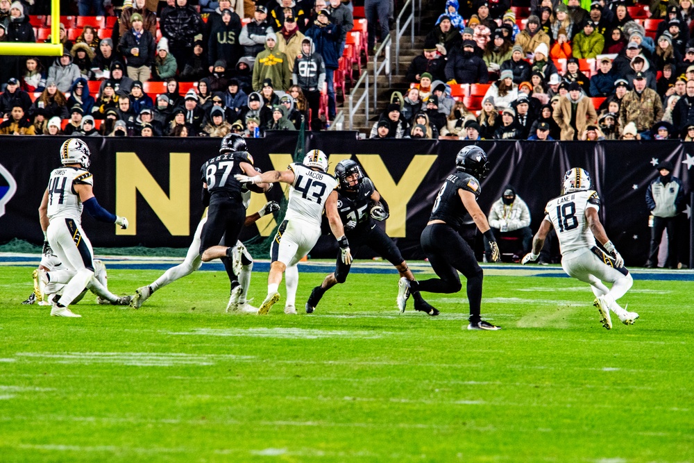
[[[280,300],[278,287],[282,282],[282,273],[296,264],[313,249],[321,236],[321,219],[323,210],[328,216],[332,234],[337,238],[341,249],[341,258],[345,264],[352,262],[349,243],[344,233],[342,221],[337,212],[337,179],[328,171],[328,157],[318,149],[306,153],[303,164],[296,162],[285,171],[268,171],[262,175],[248,177],[237,175],[240,182],[274,183],[282,182],[289,187],[289,204],[285,220],[280,224],[277,235],[270,249],[271,265],[267,278],[267,296],[258,310],[258,314],[269,312],[274,303]],[[296,273],[298,277],[298,273]],[[287,305],[285,313],[296,314],[296,282],[290,285],[287,280]],[[290,289],[291,286],[291,289]],[[289,305],[289,299],[291,305]]]

